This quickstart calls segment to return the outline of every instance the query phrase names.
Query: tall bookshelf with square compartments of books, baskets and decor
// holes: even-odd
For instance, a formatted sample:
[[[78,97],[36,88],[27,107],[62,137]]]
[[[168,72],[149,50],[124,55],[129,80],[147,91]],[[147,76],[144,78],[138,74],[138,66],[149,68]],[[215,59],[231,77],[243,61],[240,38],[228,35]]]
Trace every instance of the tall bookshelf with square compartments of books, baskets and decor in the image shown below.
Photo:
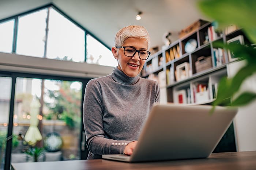
[[[216,31],[214,22],[204,21],[196,30],[151,55],[141,76],[159,82],[161,90],[166,91],[161,93],[166,95],[163,103],[209,104],[216,97],[219,80],[229,76],[229,63],[236,61],[230,60],[228,51],[214,48],[213,43],[227,43],[237,36],[250,44],[241,28]]]

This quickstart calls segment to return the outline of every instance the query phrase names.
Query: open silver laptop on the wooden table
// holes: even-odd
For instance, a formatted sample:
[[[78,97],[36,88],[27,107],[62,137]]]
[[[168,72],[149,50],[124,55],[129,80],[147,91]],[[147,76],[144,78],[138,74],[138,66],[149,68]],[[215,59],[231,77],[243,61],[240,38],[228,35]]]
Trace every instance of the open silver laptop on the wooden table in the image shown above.
[[[142,128],[131,156],[102,155],[124,162],[207,158],[237,113],[237,108],[211,105],[156,104]]]

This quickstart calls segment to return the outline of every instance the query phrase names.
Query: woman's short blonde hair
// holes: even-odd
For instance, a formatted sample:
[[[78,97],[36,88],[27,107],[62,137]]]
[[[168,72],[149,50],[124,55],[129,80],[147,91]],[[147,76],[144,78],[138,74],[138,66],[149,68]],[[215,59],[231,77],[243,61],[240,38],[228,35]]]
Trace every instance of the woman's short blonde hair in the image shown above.
[[[145,39],[148,44],[147,49],[149,49],[150,47],[150,37],[149,37],[148,31],[143,26],[127,26],[127,27],[121,28],[121,30],[119,30],[116,33],[116,37],[114,39],[114,45],[116,47],[122,46],[124,44],[124,41],[127,40],[128,38]]]

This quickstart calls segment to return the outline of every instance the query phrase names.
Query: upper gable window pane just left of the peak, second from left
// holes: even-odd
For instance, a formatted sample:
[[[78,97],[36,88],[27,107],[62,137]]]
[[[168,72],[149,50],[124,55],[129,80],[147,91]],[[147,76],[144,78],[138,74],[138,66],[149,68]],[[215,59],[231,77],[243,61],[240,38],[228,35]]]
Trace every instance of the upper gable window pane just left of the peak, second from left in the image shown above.
[[[19,17],[17,54],[44,57],[47,10]]]

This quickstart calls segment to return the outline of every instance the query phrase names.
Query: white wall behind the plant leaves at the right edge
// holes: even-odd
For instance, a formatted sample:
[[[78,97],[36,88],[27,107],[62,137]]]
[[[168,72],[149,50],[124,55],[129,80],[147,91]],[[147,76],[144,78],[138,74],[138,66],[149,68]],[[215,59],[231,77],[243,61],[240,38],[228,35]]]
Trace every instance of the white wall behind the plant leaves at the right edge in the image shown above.
[[[244,64],[244,61],[229,64],[229,76],[233,77]],[[256,74],[246,79],[242,84],[239,93],[244,91],[256,93]],[[256,150],[256,100],[238,109],[238,113],[234,119],[234,129],[237,151]]]

